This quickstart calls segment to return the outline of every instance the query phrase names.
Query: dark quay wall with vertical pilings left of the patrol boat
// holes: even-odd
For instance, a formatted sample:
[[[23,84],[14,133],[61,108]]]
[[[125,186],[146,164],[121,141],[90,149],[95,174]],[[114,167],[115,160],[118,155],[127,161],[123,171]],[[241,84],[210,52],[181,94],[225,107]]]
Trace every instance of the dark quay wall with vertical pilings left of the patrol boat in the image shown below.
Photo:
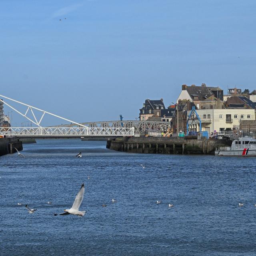
[[[230,141],[206,138],[133,137],[108,140],[106,147],[116,151],[146,154],[214,154],[216,146],[228,145],[231,145]]]

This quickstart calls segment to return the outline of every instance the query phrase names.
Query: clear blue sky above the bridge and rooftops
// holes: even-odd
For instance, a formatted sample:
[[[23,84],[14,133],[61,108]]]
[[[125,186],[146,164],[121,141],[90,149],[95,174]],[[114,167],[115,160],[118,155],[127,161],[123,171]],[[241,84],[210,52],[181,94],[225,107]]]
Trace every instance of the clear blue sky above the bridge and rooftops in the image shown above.
[[[253,90],[255,13],[255,0],[1,0],[0,94],[83,122],[134,120],[182,84]]]

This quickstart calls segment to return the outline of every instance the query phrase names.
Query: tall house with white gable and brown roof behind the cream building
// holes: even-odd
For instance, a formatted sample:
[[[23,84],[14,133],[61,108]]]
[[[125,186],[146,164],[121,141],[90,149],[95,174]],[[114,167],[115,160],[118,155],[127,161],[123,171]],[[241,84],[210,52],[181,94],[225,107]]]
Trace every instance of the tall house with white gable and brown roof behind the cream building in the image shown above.
[[[197,108],[200,108],[200,103],[210,96],[214,96],[218,100],[223,101],[223,90],[219,87],[206,86],[204,83],[201,86],[194,84],[187,86],[183,84],[182,91],[176,102],[178,103],[179,100],[189,100],[193,102]]]

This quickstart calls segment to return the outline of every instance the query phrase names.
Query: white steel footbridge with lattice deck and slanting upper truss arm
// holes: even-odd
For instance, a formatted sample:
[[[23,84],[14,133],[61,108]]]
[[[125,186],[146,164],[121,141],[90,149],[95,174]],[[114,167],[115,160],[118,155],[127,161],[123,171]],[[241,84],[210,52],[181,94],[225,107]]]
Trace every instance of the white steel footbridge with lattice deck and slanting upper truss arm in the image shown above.
[[[83,136],[92,136],[92,137],[93,136],[106,136],[106,137],[134,136],[134,127],[132,128],[102,128],[102,127],[90,128],[83,124],[79,124],[77,122],[74,122],[62,116],[57,116],[48,111],[33,107],[31,105],[25,104],[18,100],[14,100],[12,98],[8,98],[1,94],[0,94],[0,98],[5,98],[12,102],[16,102],[18,104],[26,106],[27,107],[26,112],[23,114],[22,112],[20,112],[10,104],[8,104],[6,101],[0,99],[0,102],[4,103],[6,106],[10,107],[12,110],[14,110],[18,114],[20,114],[21,116],[25,117],[30,122],[38,126],[38,127],[0,127],[0,135],[18,136],[18,137],[39,137],[39,138],[40,137],[83,137]],[[42,113],[42,116],[40,117],[39,120],[37,120],[33,110],[37,110]],[[34,120],[27,116],[29,111],[32,113]],[[42,127],[40,124],[45,114],[49,114],[51,116],[55,116],[56,118],[60,118],[62,120],[76,124],[77,127]]]

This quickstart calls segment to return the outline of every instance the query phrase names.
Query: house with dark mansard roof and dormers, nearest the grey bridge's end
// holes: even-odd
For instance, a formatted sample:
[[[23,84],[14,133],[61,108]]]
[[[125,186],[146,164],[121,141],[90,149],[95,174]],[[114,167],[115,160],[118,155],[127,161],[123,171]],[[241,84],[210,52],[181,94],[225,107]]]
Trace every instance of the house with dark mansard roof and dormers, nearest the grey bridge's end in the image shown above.
[[[146,121],[152,116],[163,117],[165,109],[163,99],[145,100],[143,107],[140,108],[140,121]]]

